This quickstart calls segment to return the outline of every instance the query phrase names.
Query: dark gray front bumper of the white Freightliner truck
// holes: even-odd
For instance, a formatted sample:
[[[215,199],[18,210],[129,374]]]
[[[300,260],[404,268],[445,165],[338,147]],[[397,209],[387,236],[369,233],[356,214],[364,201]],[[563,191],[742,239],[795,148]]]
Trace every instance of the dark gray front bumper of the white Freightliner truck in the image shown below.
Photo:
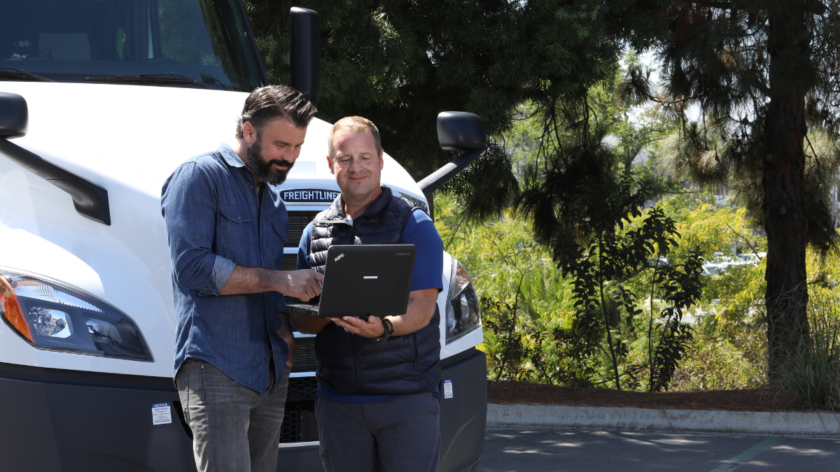
[[[441,472],[478,462],[486,422],[486,363],[469,349],[444,359]],[[291,392],[290,392],[291,393]],[[171,404],[171,423],[153,424],[152,405]],[[305,408],[308,410],[308,408]],[[301,412],[287,404],[287,416]],[[287,418],[288,422],[288,418]],[[311,418],[309,421],[311,422]],[[289,425],[284,423],[284,430]],[[278,448],[278,470],[320,470],[317,438]],[[284,431],[285,432],[285,431]],[[312,441],[312,439],[316,439]],[[307,441],[308,440],[308,441]],[[194,472],[192,439],[171,379],[0,363],[0,456],[8,472]]]

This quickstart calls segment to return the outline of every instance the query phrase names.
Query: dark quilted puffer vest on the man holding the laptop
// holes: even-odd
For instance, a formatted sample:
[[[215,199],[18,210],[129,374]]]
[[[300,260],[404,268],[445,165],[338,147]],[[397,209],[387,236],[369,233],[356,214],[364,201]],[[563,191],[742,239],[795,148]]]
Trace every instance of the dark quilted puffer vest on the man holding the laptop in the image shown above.
[[[417,203],[382,194],[352,226],[344,214],[342,197],[318,213],[312,222],[309,266],[323,273],[327,249],[333,244],[400,244],[402,231]],[[345,395],[406,395],[433,391],[440,378],[440,314],[425,328],[392,336],[385,343],[348,333],[329,323],[315,339],[318,383]]]

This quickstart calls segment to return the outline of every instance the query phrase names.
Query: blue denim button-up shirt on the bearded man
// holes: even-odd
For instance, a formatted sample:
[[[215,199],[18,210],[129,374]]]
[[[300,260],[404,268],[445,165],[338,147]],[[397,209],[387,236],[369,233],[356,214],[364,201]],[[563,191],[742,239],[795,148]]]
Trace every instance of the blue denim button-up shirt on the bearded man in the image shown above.
[[[169,235],[175,295],[175,372],[188,357],[213,364],[255,391],[268,391],[289,349],[277,335],[276,291],[223,295],[234,266],[280,270],[289,230],[286,206],[265,186],[262,205],[254,174],[227,144],[181,164],[163,185],[160,208]],[[276,388],[276,385],[272,389]]]

